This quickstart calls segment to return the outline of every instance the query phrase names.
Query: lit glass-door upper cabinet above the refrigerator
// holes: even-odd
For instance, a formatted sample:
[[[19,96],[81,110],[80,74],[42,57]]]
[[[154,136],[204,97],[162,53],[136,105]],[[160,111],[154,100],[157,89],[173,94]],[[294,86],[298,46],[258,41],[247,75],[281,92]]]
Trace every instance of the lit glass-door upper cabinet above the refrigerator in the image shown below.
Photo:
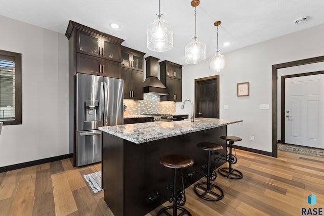
[[[120,42],[82,30],[76,31],[76,51],[115,62],[121,61]]]

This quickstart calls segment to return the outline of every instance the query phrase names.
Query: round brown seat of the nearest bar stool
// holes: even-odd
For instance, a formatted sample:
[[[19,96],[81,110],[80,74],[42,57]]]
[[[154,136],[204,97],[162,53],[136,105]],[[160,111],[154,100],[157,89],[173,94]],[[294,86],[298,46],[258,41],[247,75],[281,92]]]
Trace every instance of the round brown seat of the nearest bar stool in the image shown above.
[[[182,154],[168,154],[160,158],[160,164],[173,169],[183,169],[193,165],[193,159]]]

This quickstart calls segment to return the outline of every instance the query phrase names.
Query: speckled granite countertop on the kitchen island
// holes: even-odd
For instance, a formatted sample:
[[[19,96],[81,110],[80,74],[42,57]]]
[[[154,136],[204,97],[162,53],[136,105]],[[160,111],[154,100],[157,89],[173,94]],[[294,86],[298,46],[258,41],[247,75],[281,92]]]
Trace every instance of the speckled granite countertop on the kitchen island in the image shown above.
[[[176,122],[157,121],[99,127],[99,130],[136,144],[140,144],[238,122],[242,122],[242,120],[195,118],[195,122],[190,122],[190,120]]]

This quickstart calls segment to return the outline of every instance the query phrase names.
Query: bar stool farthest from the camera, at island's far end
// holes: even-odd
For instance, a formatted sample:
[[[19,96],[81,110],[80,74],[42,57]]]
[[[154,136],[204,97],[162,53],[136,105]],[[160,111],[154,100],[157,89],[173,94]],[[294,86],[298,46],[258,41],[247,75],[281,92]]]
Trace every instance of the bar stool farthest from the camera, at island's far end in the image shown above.
[[[235,169],[232,169],[232,164],[236,163],[236,156],[232,155],[232,146],[234,142],[241,141],[242,139],[237,136],[221,136],[221,139],[229,141],[229,154],[226,156],[229,167],[223,167],[218,169],[218,172],[229,179],[240,179],[243,174]]]

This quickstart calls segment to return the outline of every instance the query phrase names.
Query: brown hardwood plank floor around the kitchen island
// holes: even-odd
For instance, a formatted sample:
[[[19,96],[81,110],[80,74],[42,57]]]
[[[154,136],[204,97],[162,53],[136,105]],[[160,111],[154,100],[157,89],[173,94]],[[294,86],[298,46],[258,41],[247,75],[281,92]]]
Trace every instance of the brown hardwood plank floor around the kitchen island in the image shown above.
[[[232,180],[217,175],[213,183],[225,193],[217,202],[198,198],[193,186],[187,188],[184,207],[192,215],[301,215],[301,208],[324,206],[324,158],[285,151],[278,151],[278,158],[236,153],[233,167],[244,177]],[[113,216],[104,192],[93,193],[83,178],[100,170],[100,163],[73,168],[71,159],[63,159],[0,173],[0,215]],[[311,193],[317,196],[313,206],[307,203]],[[167,201],[146,216],[168,205],[172,203]]]

